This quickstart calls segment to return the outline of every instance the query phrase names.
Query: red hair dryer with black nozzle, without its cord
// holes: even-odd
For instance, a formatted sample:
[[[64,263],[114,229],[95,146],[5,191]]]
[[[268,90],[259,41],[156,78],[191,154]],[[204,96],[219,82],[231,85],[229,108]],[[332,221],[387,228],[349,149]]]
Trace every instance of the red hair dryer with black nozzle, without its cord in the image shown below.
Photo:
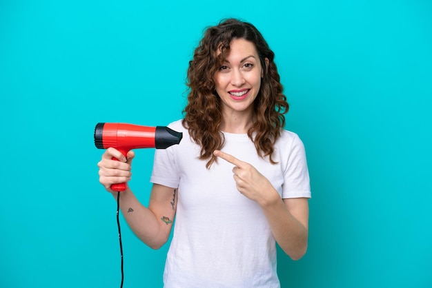
[[[137,148],[166,149],[178,144],[183,134],[165,126],[148,127],[127,123],[97,123],[95,145],[99,149],[113,147],[124,156]],[[112,157],[113,160],[118,160]],[[112,184],[114,191],[126,190],[126,183]]]

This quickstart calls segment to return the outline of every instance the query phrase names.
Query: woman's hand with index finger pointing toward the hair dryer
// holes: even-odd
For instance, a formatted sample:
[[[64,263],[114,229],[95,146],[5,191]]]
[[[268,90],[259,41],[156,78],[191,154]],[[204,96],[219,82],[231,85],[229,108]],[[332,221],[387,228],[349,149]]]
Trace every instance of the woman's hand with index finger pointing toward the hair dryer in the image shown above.
[[[220,150],[215,150],[213,154],[234,165],[233,174],[237,189],[247,198],[256,201],[259,205],[266,205],[269,200],[278,196],[270,181],[253,165]]]

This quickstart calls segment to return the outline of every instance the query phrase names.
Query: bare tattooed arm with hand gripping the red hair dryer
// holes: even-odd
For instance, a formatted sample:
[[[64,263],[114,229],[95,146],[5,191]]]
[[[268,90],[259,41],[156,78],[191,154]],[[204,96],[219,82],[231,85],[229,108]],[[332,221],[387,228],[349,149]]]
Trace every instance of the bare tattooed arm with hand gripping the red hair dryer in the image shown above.
[[[98,163],[99,181],[116,199],[117,192],[112,191],[110,185],[130,180],[134,156],[135,154],[130,151],[126,158],[118,150],[108,148]],[[119,161],[113,161],[112,157]],[[129,187],[126,191],[120,192],[120,209],[130,229],[153,249],[158,249],[168,240],[176,208],[175,188],[153,185],[148,208],[139,203]]]

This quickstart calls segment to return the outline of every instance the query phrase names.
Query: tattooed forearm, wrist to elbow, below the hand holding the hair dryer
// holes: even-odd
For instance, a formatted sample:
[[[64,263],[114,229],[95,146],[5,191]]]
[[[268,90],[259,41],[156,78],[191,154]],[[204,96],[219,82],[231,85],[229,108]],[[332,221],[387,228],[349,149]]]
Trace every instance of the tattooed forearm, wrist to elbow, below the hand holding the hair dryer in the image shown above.
[[[117,193],[113,196],[117,200]],[[150,209],[139,203],[129,188],[120,192],[120,210],[132,232],[146,245],[158,249],[166,243],[160,221]]]

